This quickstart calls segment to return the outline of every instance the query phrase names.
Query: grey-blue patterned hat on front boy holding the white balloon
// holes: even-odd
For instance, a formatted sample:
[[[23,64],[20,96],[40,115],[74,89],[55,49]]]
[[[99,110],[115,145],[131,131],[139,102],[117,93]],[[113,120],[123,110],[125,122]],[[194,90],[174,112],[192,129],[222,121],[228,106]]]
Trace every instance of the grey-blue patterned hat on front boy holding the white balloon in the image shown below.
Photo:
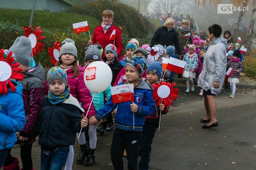
[[[49,87],[50,82],[55,80],[55,79],[62,80],[66,84],[66,86],[68,86],[67,73],[61,67],[52,67],[47,72],[48,87]]]

